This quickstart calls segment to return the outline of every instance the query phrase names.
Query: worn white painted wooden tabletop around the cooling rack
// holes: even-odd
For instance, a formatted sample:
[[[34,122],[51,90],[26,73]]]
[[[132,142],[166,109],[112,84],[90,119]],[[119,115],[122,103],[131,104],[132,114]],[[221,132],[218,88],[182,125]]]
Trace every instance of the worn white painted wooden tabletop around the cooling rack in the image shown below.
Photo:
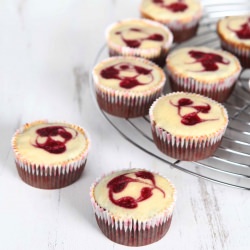
[[[249,249],[248,191],[192,177],[142,152],[110,126],[90,95],[89,71],[106,26],[139,17],[139,3],[0,2],[0,249],[127,249],[100,232],[89,187],[103,173],[129,167],[161,172],[178,192],[169,232],[143,249]],[[28,186],[14,164],[13,133],[44,118],[79,124],[91,137],[81,179],[61,190]]]

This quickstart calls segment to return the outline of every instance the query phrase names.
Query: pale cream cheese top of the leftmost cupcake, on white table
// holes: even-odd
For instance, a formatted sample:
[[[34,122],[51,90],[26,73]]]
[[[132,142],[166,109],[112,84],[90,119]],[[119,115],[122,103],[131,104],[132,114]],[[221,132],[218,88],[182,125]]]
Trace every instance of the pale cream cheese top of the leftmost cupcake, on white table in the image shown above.
[[[38,143],[42,144],[48,138],[39,136],[36,131],[50,126],[62,126],[65,131],[72,135],[72,139],[65,143],[65,152],[59,154],[50,153],[43,148],[36,146],[36,140]],[[52,136],[51,138],[55,141],[64,140],[60,135]],[[71,160],[80,160],[78,158],[81,157],[88,149],[89,142],[86,134],[80,128],[77,129],[70,124],[55,122],[31,124],[23,131],[16,134],[13,146],[19,160],[21,161],[41,166],[57,164],[60,166],[61,164],[66,164]]]

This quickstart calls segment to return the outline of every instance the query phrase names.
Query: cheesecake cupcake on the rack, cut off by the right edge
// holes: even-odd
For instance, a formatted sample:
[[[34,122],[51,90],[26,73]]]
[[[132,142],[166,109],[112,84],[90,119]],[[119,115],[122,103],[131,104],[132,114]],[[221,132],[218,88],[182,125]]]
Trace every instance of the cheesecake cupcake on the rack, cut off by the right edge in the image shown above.
[[[244,68],[250,68],[250,15],[220,19],[217,34],[221,47],[237,56]]]

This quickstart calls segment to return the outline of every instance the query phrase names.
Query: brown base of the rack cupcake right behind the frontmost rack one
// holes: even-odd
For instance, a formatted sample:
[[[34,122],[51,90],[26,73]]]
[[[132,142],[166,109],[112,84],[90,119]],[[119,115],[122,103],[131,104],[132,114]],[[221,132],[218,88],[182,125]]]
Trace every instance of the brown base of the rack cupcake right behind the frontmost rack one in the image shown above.
[[[183,91],[183,92],[190,92],[190,93],[197,93],[203,96],[207,96],[210,97],[211,99],[217,101],[217,102],[225,102],[229,96],[232,94],[234,87],[235,87],[235,83],[227,88],[224,89],[223,91],[217,91],[217,89],[213,89],[213,90],[207,90],[205,88],[203,89],[199,89],[199,91],[195,91],[193,89],[191,89],[191,86],[189,84],[186,85],[179,85],[176,81],[173,80],[172,77],[169,76],[169,83],[170,83],[170,87],[172,91]]]

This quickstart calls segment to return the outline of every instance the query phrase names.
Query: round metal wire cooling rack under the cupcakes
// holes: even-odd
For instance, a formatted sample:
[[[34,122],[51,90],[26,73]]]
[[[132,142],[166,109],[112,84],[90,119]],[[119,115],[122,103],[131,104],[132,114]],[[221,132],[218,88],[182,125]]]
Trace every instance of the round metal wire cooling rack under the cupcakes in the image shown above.
[[[215,32],[218,19],[228,15],[250,13],[249,0],[202,3],[204,15],[196,37],[180,45],[175,44],[173,49],[185,46],[220,48]],[[98,52],[94,65],[107,57],[108,49],[104,45]],[[167,82],[165,93],[169,92],[168,86]],[[98,107],[92,77],[90,89]],[[212,157],[198,162],[180,161],[161,153],[153,142],[148,116],[123,119],[109,115],[99,107],[98,109],[126,140],[169,166],[210,181],[250,190],[250,69],[242,70],[236,87],[224,106],[228,110],[230,120],[222,143]]]

